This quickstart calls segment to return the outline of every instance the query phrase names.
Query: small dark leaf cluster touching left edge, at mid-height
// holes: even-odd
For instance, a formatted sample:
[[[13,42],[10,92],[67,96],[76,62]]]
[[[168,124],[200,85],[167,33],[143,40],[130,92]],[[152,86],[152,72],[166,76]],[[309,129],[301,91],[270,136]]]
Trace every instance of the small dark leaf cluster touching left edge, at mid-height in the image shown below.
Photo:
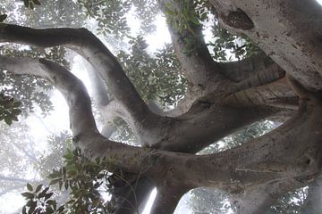
[[[18,121],[18,115],[21,113],[21,102],[16,102],[13,97],[0,93],[0,120],[11,125],[13,121]]]

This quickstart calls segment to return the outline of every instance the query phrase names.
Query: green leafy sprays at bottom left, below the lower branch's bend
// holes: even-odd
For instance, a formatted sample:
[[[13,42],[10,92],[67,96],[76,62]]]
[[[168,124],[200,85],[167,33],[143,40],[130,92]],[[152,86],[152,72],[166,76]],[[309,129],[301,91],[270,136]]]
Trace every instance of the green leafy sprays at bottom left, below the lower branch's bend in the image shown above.
[[[109,182],[111,173],[105,170],[108,163],[99,159],[89,161],[81,155],[79,149],[68,149],[63,157],[64,167],[54,169],[48,176],[51,180],[49,186],[58,185],[59,192],[69,192],[67,202],[55,213],[112,213],[114,201],[108,201],[101,195],[101,192],[107,192],[112,188]],[[52,191],[55,190],[53,187]],[[32,204],[33,210],[43,210],[46,214],[54,213],[52,210],[57,207],[57,200],[55,194],[48,190],[49,187],[46,187],[40,195],[37,191],[22,193],[29,200],[25,207],[30,209]]]

